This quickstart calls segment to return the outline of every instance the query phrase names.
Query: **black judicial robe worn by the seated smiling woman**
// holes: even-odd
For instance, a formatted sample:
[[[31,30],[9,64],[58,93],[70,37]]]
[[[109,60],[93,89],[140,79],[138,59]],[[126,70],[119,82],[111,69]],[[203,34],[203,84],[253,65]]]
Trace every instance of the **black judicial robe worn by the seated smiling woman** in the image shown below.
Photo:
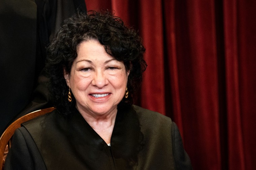
[[[111,146],[76,111],[55,110],[17,129],[8,169],[192,169],[174,122],[135,105],[118,109]]]

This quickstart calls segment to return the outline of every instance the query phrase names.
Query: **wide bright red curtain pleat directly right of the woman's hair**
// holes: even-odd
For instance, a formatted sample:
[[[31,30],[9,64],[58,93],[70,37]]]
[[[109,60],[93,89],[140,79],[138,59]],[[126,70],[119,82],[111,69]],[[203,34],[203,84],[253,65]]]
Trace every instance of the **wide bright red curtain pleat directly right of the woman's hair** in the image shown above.
[[[140,4],[143,5],[138,16],[139,31],[147,49],[145,60],[148,64],[142,79],[141,105],[165,115],[162,5],[161,1],[146,3],[144,0]]]

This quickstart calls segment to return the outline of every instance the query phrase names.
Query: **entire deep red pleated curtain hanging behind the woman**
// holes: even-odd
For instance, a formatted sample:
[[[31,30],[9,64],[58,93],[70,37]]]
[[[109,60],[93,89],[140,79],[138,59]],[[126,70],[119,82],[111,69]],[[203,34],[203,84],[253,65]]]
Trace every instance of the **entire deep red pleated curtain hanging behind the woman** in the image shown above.
[[[139,30],[137,104],[178,124],[194,169],[255,169],[256,1],[85,1]]]

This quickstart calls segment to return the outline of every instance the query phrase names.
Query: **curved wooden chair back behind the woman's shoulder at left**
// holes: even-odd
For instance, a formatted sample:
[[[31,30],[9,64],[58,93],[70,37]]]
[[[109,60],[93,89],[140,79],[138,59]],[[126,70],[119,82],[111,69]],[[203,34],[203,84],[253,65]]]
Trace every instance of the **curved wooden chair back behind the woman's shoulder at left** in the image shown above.
[[[0,138],[0,170],[2,170],[5,162],[4,156],[7,155],[9,148],[11,147],[11,137],[14,134],[14,131],[21,127],[21,124],[36,118],[38,116],[44,115],[46,113],[52,112],[55,108],[47,108],[38,110],[35,112],[31,112],[25,116],[20,117],[19,119],[15,120],[8,128],[4,131]],[[7,153],[6,153],[7,152]],[[4,159],[4,161],[3,161]]]

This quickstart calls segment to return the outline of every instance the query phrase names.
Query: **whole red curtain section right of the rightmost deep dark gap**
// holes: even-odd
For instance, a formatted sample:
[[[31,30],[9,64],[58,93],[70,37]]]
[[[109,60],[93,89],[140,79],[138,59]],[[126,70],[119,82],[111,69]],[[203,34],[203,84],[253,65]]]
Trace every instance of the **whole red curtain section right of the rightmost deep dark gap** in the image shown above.
[[[255,6],[255,2],[224,1],[230,169],[255,165]]]

